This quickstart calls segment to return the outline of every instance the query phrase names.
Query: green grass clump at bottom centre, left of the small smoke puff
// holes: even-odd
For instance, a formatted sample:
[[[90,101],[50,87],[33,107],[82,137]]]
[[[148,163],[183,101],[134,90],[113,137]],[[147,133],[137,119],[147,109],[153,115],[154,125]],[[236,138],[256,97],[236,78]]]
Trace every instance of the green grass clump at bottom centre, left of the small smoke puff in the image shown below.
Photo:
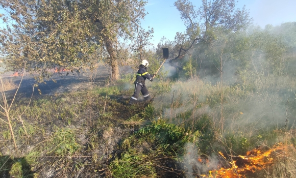
[[[185,130],[162,119],[152,121],[122,141],[124,152],[111,162],[109,168],[114,177],[160,176],[155,171],[165,167],[160,160],[177,160],[183,155],[184,145],[188,142],[198,144],[201,135],[198,130]]]

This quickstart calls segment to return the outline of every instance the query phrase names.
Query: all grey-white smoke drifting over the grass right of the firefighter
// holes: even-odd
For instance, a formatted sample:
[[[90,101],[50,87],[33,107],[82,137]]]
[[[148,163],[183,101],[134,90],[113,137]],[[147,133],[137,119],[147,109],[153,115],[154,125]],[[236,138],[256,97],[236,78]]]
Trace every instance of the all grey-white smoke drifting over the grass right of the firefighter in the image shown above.
[[[257,43],[260,34],[254,36],[254,43]],[[270,48],[267,42],[262,42],[262,45]],[[280,55],[266,48],[258,45],[258,49],[250,48],[250,51],[243,51],[238,57],[232,56],[231,60],[225,57],[222,86],[221,74],[213,65],[212,58],[209,57],[203,64],[199,62],[197,76],[186,80],[179,78],[172,84],[169,93],[155,98],[153,104],[157,112],[161,111],[163,118],[183,126],[186,125],[185,121],[198,121],[201,115],[207,114],[209,117],[206,118],[211,120],[209,130],[218,134],[223,123],[225,135],[221,136],[233,139],[229,139],[231,147],[225,147],[225,151],[232,149],[239,152],[262,142],[272,144],[279,139],[282,141],[280,136],[276,138],[275,130],[283,129],[286,120],[292,130],[296,122],[296,80],[293,77],[296,58],[294,52]],[[165,70],[170,76],[175,75],[176,68],[167,65]],[[206,135],[210,131],[205,129],[201,132]],[[241,138],[246,142],[242,143],[244,139]],[[228,144],[228,140],[225,143]],[[186,177],[196,177],[196,174],[217,169],[219,160],[216,156],[205,158],[199,155],[199,148],[193,143],[187,143],[184,150],[180,164]]]

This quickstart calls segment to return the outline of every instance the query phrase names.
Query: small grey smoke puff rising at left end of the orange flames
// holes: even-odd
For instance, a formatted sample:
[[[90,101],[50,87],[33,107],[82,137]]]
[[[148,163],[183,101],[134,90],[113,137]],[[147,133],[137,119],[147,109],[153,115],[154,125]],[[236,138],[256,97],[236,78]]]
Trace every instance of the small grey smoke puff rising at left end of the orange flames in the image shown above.
[[[216,156],[198,155],[198,147],[194,143],[186,143],[181,165],[185,176],[191,178],[196,177],[196,174],[205,174],[209,170],[217,169],[219,160]]]

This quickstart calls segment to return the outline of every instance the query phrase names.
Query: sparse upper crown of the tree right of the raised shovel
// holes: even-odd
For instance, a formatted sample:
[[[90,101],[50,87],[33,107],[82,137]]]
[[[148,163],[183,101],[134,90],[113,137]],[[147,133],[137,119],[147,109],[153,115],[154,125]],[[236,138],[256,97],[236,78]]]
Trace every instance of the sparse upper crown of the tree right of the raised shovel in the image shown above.
[[[188,0],[174,3],[186,25],[185,33],[175,37],[175,58],[182,58],[196,44],[211,44],[216,40],[216,29],[236,32],[249,25],[249,12],[243,7],[235,9],[235,0],[202,0],[199,9]]]

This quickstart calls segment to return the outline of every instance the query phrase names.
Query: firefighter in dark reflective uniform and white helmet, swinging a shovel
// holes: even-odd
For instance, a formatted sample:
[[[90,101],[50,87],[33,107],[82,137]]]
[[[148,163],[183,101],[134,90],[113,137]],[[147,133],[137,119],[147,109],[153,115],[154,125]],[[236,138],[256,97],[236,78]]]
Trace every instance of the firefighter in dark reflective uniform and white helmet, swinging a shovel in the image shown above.
[[[151,96],[145,86],[145,80],[148,79],[153,81],[153,75],[147,72],[147,66],[149,65],[147,60],[143,60],[141,65],[139,66],[139,70],[137,72],[135,84],[135,92],[134,95],[131,97],[129,104],[135,104],[138,101],[140,91],[144,97],[145,101],[149,101]]]

